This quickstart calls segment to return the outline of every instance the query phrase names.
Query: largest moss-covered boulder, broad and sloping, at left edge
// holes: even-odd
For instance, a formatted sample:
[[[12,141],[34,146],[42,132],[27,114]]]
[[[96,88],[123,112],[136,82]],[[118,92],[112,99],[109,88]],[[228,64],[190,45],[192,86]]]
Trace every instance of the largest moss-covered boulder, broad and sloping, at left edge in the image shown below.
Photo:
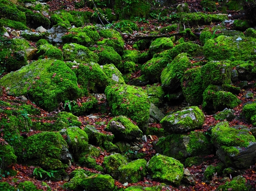
[[[82,96],[77,78],[63,61],[43,59],[34,61],[0,79],[7,93],[28,96],[38,106],[53,111],[59,104]]]

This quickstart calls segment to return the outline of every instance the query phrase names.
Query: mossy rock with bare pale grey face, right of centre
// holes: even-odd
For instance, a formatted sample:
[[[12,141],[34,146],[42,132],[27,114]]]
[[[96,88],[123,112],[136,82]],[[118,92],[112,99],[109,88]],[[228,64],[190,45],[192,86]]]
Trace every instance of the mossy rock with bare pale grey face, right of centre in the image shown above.
[[[162,127],[170,133],[184,133],[202,128],[204,124],[204,113],[197,107],[166,115],[161,121]]]

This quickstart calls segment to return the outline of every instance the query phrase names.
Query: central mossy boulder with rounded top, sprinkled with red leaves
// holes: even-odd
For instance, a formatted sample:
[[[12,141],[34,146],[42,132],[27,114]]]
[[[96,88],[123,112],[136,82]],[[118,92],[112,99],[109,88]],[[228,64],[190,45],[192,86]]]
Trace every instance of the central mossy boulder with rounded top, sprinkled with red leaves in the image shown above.
[[[149,118],[149,101],[141,88],[129,85],[108,86],[105,90],[111,112],[135,121],[141,130]]]

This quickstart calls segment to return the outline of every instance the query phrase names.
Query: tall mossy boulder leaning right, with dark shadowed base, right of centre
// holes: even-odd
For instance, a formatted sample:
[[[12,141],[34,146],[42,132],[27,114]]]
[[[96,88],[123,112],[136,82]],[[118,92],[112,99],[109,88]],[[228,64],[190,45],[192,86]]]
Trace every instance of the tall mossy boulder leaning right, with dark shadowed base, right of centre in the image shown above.
[[[162,88],[166,91],[174,91],[180,86],[180,79],[187,68],[191,67],[191,62],[186,53],[176,56],[172,62],[161,72]]]

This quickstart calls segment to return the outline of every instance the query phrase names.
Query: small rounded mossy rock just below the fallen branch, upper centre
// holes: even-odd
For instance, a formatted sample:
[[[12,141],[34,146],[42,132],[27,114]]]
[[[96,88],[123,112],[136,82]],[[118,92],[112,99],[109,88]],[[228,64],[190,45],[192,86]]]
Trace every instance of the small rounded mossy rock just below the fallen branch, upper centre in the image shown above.
[[[171,38],[161,37],[154,40],[149,46],[149,52],[153,56],[156,53],[162,52],[163,50],[170,49],[173,47]]]

